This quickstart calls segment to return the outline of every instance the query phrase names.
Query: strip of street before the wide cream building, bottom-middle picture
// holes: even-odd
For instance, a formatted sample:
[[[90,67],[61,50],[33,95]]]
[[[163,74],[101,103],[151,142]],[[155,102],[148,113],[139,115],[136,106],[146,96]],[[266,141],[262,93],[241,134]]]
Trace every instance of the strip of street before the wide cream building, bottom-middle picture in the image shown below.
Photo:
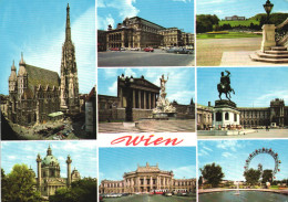
[[[164,196],[164,195],[128,195],[122,198],[105,198],[104,202],[194,202],[195,196]]]

